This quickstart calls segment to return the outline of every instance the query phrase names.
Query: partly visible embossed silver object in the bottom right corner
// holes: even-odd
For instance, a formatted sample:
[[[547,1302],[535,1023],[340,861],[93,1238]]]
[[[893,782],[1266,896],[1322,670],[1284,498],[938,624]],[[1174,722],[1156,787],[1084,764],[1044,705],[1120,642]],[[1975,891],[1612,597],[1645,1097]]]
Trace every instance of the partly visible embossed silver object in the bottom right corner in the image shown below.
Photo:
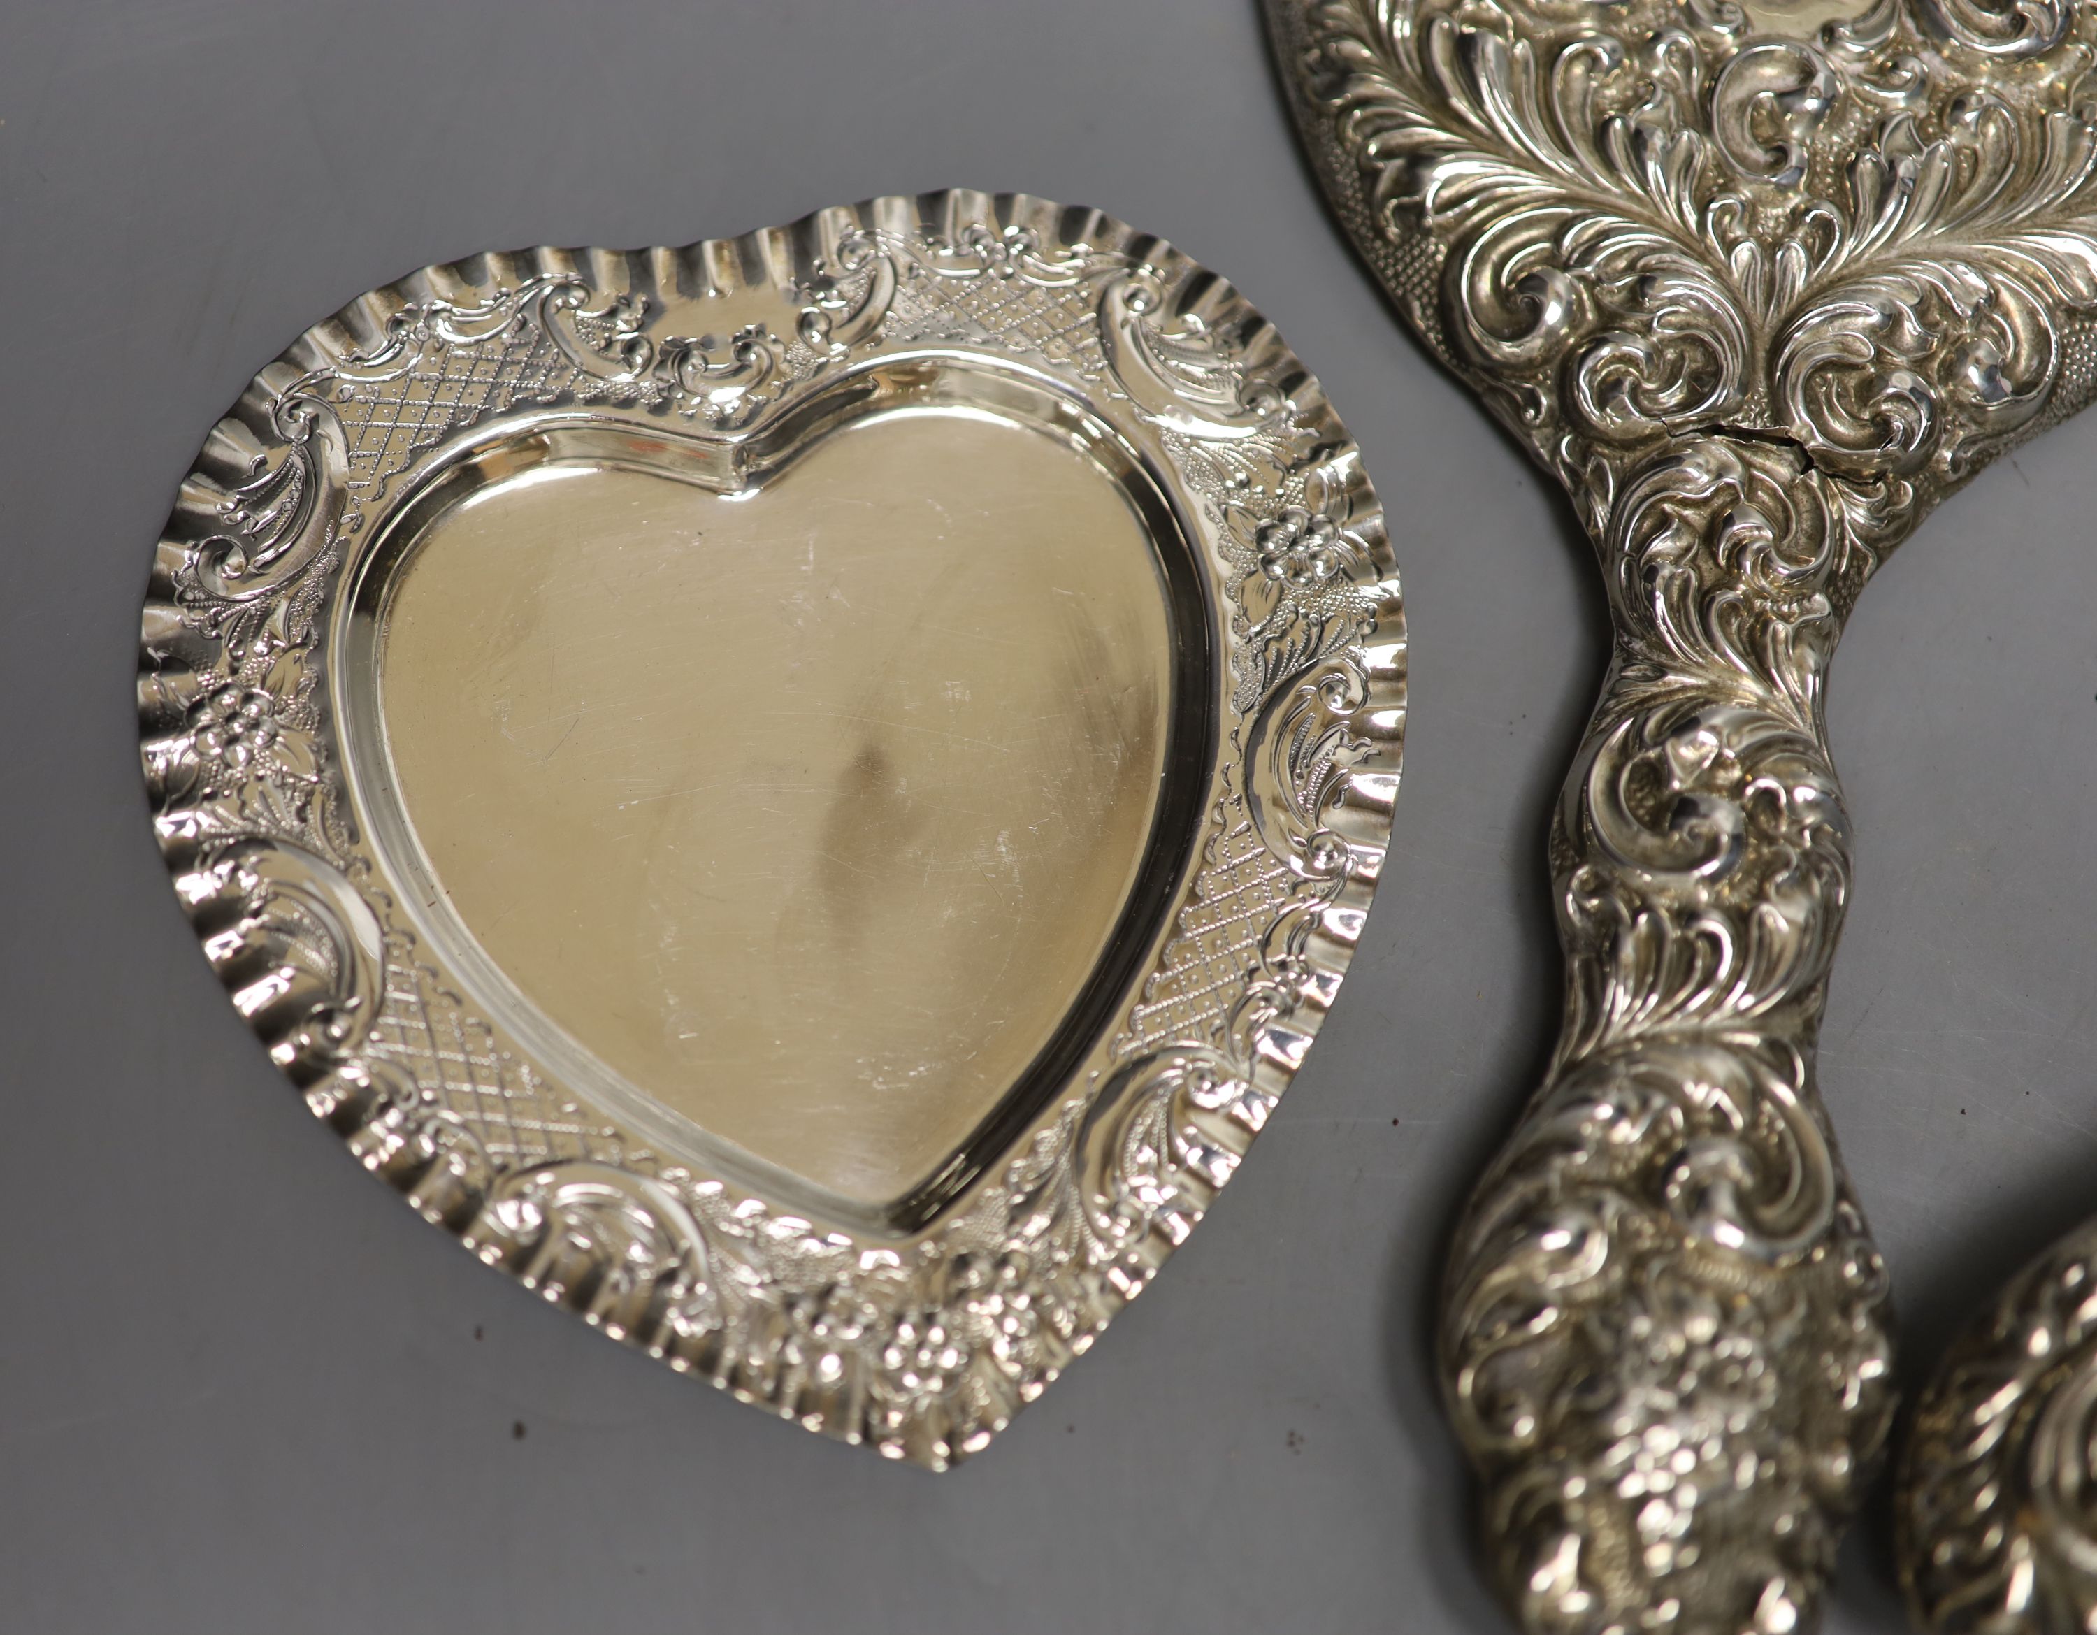
[[[1952,1344],[1900,1453],[1896,1541],[1923,1629],[2097,1627],[2097,1220]]]

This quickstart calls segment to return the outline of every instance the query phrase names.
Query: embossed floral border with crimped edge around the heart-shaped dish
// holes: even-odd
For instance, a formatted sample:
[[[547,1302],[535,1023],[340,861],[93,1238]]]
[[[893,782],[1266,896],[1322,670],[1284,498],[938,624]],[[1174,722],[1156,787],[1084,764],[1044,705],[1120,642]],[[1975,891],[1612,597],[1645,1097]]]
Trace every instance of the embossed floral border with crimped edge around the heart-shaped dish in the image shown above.
[[[558,413],[732,440],[927,358],[1053,382],[1172,497],[1218,750],[1155,956],[1080,1069],[925,1224],[858,1233],[637,1136],[461,998],[346,778],[331,631],[384,520],[472,438]],[[1235,289],[1097,212],[937,193],[352,302],[182,484],[138,696],[176,893],[361,1163],[608,1335],[939,1469],[1143,1291],[1309,1050],[1390,832],[1405,623],[1355,444]]]

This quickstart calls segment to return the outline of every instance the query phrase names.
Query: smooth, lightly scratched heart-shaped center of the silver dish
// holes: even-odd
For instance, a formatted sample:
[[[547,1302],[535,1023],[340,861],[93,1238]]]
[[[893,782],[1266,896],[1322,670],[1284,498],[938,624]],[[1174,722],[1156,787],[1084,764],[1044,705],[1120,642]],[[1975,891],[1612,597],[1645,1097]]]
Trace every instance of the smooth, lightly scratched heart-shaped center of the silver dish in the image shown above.
[[[459,929],[826,1193],[954,1157],[1109,950],[1172,629],[1122,488],[1040,432],[862,421],[736,495],[531,461],[388,602],[392,769]]]

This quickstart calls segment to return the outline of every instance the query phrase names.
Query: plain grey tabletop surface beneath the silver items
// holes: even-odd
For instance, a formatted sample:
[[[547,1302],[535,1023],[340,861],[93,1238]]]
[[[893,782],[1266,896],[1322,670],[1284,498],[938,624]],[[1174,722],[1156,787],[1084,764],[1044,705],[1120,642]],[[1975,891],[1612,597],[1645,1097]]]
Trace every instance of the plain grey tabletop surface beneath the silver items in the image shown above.
[[[673,1377],[386,1197],[226,1006],[147,832],[138,602],[247,375],[359,291],[885,191],[1097,203],[1323,377],[1413,625],[1344,1000],[1158,1287],[979,1461]],[[1426,1365],[1556,1017],[1548,803],[1602,618],[1562,503],[1401,333],[1241,0],[0,4],[0,1629],[1501,1629]],[[1822,1077],[1912,1381],[2097,1205],[2097,417],[1864,597]],[[1900,1627],[1883,1495],[1829,1627]]]

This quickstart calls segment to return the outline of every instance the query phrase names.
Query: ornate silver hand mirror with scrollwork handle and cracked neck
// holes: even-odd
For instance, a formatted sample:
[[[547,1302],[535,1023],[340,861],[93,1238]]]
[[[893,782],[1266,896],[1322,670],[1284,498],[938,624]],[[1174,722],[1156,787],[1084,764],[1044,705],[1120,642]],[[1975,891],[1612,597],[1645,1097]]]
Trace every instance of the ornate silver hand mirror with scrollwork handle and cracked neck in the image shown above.
[[[1816,1618],[1889,1404],[1814,1084],[1871,572],[2091,396],[2097,17],[2057,0],[1269,0],[1399,308],[1615,618],[1552,830],[1566,1019],[1457,1230],[1449,1409],[1537,1631]]]

